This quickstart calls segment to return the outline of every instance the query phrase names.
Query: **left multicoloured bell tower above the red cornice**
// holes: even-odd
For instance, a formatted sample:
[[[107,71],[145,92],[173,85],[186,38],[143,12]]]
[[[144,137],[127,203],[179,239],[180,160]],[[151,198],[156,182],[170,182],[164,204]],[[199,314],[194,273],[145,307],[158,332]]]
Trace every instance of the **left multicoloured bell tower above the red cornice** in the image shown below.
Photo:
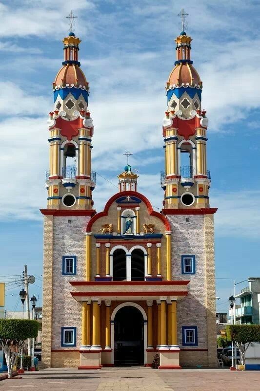
[[[64,61],[53,82],[54,109],[48,121],[47,208],[92,209],[96,173],[91,171],[89,84],[78,59],[80,39],[71,31],[62,42]]]

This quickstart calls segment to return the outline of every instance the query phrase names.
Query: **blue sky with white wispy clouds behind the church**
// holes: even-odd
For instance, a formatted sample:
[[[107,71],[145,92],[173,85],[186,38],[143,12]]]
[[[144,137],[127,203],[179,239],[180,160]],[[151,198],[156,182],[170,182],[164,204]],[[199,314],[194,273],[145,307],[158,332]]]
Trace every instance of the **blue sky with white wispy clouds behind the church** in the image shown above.
[[[52,82],[63,60],[65,16],[71,9],[78,15],[75,32],[82,40],[79,56],[95,125],[93,169],[117,186],[122,153],[129,149],[140,174],[139,191],[160,208],[164,86],[175,61],[181,7],[166,0],[0,2],[0,280],[13,281],[3,276],[20,275],[27,263],[29,274],[37,276],[30,296],[39,294],[40,304],[46,121],[53,109]],[[209,118],[210,202],[219,208],[218,309],[226,311],[232,279],[260,276],[260,3],[187,0],[185,11]],[[96,208],[101,210],[115,191],[98,175]],[[7,309],[19,309],[19,285],[7,289]]]

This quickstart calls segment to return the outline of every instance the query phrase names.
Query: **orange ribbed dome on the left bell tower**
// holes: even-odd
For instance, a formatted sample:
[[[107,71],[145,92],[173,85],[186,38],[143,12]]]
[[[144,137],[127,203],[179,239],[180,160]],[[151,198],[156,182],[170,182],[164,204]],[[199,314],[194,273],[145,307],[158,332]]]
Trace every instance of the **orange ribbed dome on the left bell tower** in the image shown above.
[[[80,69],[79,65],[75,64],[65,64],[57,73],[57,76],[54,81],[56,86],[66,86],[74,84],[74,86],[86,87],[87,81],[84,73]]]

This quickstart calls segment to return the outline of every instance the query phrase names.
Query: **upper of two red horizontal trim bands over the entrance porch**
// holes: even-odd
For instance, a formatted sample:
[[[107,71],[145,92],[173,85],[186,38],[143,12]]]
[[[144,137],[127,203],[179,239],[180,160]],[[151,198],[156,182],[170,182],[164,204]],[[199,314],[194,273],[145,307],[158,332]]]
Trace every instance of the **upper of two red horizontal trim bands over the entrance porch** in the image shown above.
[[[84,285],[84,286],[93,286],[93,285],[188,285],[189,280],[183,281],[70,281],[70,284],[73,286]]]

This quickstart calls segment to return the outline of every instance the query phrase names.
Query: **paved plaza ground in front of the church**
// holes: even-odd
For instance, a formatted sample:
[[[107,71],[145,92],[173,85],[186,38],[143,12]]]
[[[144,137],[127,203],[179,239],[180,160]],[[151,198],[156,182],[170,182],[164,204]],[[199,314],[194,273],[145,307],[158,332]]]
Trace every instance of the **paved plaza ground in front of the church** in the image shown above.
[[[0,391],[257,391],[260,372],[229,369],[44,369],[3,380]]]

